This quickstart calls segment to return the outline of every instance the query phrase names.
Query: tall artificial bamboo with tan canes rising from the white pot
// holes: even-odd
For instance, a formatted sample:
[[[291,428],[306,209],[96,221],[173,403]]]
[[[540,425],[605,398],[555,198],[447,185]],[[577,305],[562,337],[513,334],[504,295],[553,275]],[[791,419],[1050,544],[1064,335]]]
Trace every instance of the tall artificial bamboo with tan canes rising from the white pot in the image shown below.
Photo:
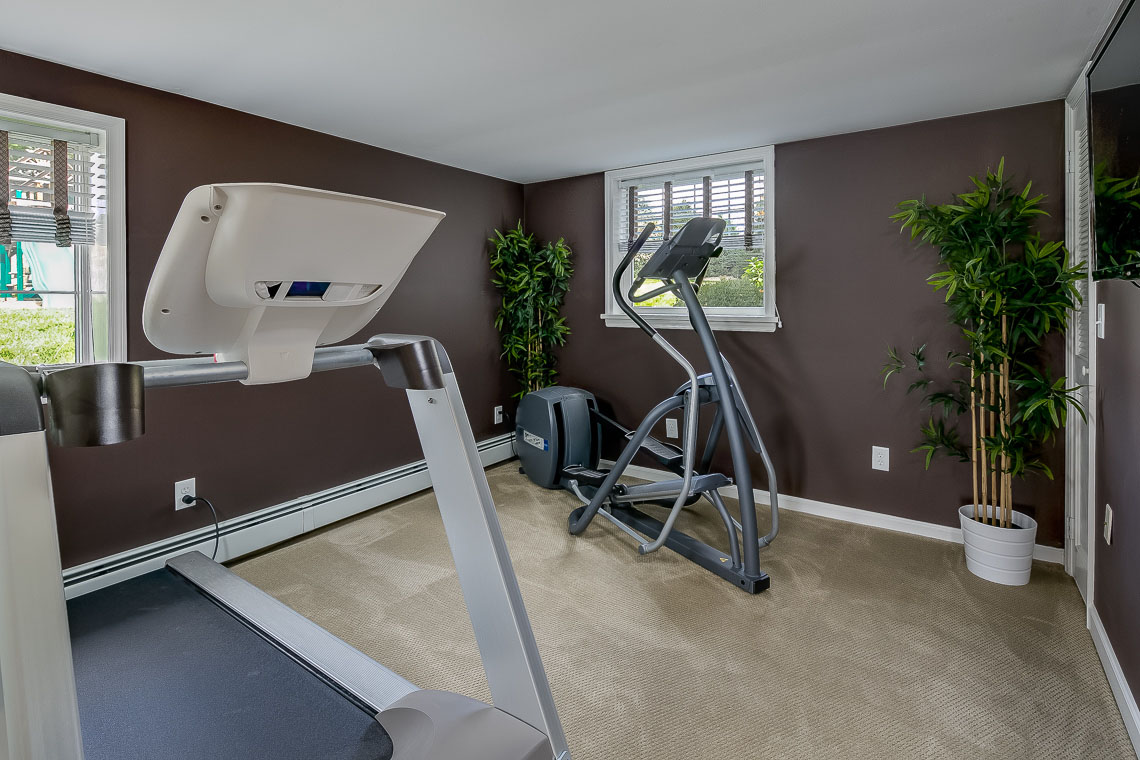
[[[1078,389],[1051,376],[1042,346],[1064,333],[1085,267],[1069,262],[1062,243],[1042,242],[1034,221],[1045,214],[1044,196],[1029,195],[1032,182],[1015,189],[1004,164],[985,179],[971,177],[974,190],[952,203],[904,201],[891,216],[912,240],[938,252],[942,267],[927,281],[945,291],[950,319],[966,340],[964,352],[947,356],[964,376],[931,390],[925,345],[911,352],[912,361],[889,349],[882,373],[886,385],[913,363],[918,377],[907,392],[921,391],[931,415],[914,451],[926,455],[927,467],[939,451],[969,461],[974,518],[1010,528],[1012,479],[1031,472],[1052,477],[1043,446],[1064,427],[1068,407],[1084,415]]]

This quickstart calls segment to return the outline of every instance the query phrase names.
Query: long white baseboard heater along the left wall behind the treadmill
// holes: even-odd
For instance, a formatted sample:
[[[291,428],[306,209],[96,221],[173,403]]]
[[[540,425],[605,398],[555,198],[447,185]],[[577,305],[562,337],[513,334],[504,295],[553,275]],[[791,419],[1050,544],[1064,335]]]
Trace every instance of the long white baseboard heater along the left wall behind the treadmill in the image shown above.
[[[484,467],[513,456],[513,433],[504,433],[479,443],[479,457]],[[427,474],[427,463],[421,459],[223,521],[218,561],[236,559],[429,488],[431,476]],[[68,567],[64,571],[64,589],[68,599],[82,596],[158,570],[166,564],[166,559],[186,551],[196,549],[209,556],[213,551],[213,542],[214,529],[210,525]]]

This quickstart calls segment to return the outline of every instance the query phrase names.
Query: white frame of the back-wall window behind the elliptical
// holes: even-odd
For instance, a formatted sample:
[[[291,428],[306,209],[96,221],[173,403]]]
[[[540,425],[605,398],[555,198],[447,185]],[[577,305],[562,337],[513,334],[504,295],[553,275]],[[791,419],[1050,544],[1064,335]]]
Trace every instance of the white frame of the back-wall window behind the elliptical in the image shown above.
[[[732,150],[695,158],[665,161],[657,164],[642,164],[605,172],[605,313],[601,314],[606,327],[636,327],[614,302],[610,286],[613,271],[625,256],[614,239],[621,218],[621,183],[628,180],[657,178],[662,174],[691,173],[694,171],[716,170],[722,166],[744,163],[763,163],[765,193],[765,229],[764,229],[764,292],[763,309],[746,307],[724,307],[706,309],[709,325],[717,330],[742,330],[751,333],[772,333],[780,325],[780,312],[776,309],[775,287],[775,146]],[[633,283],[633,272],[626,273],[621,291],[628,291]],[[692,329],[689,316],[683,308],[670,307],[634,307],[637,314],[657,329]],[[736,312],[736,313],[733,313]]]

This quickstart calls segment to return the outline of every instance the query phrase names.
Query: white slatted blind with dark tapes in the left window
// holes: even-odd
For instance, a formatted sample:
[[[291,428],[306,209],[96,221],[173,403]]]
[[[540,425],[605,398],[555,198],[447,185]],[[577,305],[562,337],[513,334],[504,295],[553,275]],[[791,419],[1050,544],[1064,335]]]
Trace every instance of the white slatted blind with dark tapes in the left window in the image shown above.
[[[0,209],[0,216],[7,219],[0,219],[0,244],[6,243],[7,232],[14,243],[95,245],[96,220],[105,214],[107,203],[105,156],[82,140],[58,140],[6,126],[19,125],[0,122],[8,157],[6,206]],[[64,148],[65,157],[55,155],[58,148]],[[56,162],[65,163],[66,170],[57,169]],[[64,177],[65,182],[57,181]]]

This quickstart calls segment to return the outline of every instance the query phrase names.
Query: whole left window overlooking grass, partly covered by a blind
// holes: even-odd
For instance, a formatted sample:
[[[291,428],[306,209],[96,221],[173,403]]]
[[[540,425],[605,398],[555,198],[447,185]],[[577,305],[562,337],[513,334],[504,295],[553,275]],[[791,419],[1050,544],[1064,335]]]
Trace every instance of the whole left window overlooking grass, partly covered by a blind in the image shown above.
[[[124,133],[0,95],[0,361],[127,359]]]

